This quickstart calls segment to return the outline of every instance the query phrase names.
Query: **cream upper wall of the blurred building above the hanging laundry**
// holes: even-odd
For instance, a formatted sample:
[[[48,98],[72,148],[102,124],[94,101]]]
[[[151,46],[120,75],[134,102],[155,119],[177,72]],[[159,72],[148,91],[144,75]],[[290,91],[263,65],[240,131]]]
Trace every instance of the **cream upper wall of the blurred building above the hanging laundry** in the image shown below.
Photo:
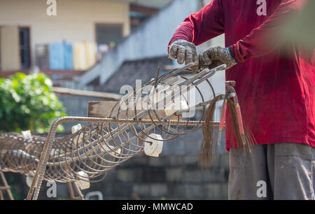
[[[94,42],[96,23],[123,24],[123,35],[130,34],[127,2],[56,0],[56,16],[47,15],[46,2],[46,0],[0,1],[0,26],[30,27],[33,63],[36,43],[62,42],[64,39],[69,42],[83,40]]]

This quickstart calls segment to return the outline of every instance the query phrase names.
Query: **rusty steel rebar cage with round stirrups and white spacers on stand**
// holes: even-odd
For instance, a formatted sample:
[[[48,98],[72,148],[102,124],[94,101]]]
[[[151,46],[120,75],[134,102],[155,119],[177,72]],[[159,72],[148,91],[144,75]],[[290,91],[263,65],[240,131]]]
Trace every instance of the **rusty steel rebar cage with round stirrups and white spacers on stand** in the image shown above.
[[[80,190],[103,180],[110,169],[142,152],[158,157],[163,143],[198,129],[204,134],[200,162],[209,163],[216,141],[214,127],[220,127],[221,143],[227,108],[237,143],[250,149],[255,140],[243,125],[235,82],[226,82],[226,93],[216,94],[209,81],[226,65],[193,73],[190,68],[194,65],[161,76],[158,71],[155,79],[117,102],[89,104],[88,117],[60,117],[52,123],[47,138],[31,136],[29,131],[1,134],[0,171],[27,176],[27,199],[38,199],[43,180],[68,183],[72,199],[76,198],[74,185],[78,198],[83,199]],[[221,100],[221,122],[215,122],[216,102]],[[63,122],[79,124],[72,127],[72,134],[56,138]]]

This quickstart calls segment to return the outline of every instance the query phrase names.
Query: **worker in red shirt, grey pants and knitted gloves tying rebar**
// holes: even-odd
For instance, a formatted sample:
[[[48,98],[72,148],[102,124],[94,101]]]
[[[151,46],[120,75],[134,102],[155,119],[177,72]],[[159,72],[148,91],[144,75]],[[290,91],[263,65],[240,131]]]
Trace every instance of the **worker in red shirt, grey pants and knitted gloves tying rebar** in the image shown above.
[[[311,0],[312,1],[312,0]],[[315,199],[314,50],[283,45],[276,35],[305,0],[212,0],[179,25],[169,57],[195,62],[193,71],[226,64],[235,80],[251,152],[237,149],[230,113],[228,199]],[[225,34],[225,48],[200,45]]]

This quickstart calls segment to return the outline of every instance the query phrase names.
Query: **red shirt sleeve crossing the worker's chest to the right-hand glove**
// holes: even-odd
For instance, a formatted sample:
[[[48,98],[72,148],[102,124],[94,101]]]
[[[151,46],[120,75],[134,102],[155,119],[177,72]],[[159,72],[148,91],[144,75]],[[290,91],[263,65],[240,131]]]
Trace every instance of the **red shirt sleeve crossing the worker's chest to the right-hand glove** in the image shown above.
[[[282,0],[265,22],[253,29],[245,38],[230,45],[232,55],[237,62],[244,62],[250,57],[261,57],[279,47],[281,41],[276,32],[303,8],[305,0]]]

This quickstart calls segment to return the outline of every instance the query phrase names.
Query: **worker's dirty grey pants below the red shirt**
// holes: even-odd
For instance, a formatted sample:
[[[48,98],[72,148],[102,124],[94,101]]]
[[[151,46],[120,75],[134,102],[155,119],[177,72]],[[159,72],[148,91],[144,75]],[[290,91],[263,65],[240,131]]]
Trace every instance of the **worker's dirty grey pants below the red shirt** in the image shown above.
[[[297,143],[230,149],[229,199],[315,199],[315,148]]]

